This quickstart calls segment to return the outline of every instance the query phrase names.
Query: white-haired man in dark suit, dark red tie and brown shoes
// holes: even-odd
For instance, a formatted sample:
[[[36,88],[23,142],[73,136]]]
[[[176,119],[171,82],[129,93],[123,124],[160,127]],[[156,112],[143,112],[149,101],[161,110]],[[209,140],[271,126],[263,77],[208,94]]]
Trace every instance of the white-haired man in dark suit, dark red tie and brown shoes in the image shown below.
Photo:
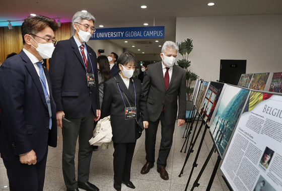
[[[186,71],[174,65],[178,46],[167,41],[162,47],[161,62],[148,65],[143,80],[143,92],[147,99],[149,127],[146,129],[146,164],[141,173],[146,174],[155,162],[156,134],[159,122],[162,124],[162,139],[157,160],[157,170],[161,178],[169,179],[165,169],[172,145],[174,125],[178,108],[178,126],[185,122]],[[178,106],[177,106],[178,100]]]

